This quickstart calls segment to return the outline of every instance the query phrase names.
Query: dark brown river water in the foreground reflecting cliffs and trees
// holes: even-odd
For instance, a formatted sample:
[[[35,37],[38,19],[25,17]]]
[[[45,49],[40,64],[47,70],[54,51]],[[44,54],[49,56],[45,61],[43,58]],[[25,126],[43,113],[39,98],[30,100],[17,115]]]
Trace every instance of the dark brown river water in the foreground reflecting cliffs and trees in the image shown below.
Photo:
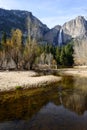
[[[37,92],[2,93],[0,130],[87,130],[86,88],[87,79],[64,77]]]

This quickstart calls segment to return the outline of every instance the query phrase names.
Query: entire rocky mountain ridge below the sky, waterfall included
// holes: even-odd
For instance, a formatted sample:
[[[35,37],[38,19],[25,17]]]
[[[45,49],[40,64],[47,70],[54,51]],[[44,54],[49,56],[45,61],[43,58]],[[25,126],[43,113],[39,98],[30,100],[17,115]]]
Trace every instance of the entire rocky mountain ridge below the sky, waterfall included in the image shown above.
[[[71,39],[87,37],[87,21],[83,16],[78,16],[63,26],[57,25],[49,29],[31,12],[22,10],[5,10],[0,8],[0,37],[2,32],[10,34],[12,29],[19,28],[27,36],[27,17],[32,22],[31,36],[39,41],[53,45],[66,44]],[[43,43],[44,43],[43,42]]]

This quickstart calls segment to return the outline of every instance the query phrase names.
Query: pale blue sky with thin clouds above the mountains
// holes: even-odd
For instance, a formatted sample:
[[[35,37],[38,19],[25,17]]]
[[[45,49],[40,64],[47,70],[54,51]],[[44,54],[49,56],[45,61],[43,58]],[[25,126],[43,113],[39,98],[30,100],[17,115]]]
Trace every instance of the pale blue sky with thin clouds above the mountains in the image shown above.
[[[87,0],[0,0],[0,8],[30,11],[49,28],[87,16]]]

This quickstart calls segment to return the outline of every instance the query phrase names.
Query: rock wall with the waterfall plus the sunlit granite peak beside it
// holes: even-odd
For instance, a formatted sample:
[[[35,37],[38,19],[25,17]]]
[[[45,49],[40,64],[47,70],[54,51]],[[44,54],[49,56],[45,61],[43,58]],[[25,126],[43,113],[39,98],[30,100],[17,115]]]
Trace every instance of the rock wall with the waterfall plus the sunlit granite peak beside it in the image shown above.
[[[71,39],[87,37],[87,21],[83,16],[78,16],[63,26],[55,26],[45,34],[45,40],[54,45],[63,45]]]

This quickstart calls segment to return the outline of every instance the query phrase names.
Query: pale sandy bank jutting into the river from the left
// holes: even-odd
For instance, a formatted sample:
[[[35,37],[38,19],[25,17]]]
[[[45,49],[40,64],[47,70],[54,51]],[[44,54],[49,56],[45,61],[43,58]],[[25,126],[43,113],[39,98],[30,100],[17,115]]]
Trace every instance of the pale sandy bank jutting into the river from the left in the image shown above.
[[[0,91],[15,90],[17,86],[23,88],[40,87],[61,80],[61,77],[48,75],[38,76],[33,71],[4,71],[0,72]]]

